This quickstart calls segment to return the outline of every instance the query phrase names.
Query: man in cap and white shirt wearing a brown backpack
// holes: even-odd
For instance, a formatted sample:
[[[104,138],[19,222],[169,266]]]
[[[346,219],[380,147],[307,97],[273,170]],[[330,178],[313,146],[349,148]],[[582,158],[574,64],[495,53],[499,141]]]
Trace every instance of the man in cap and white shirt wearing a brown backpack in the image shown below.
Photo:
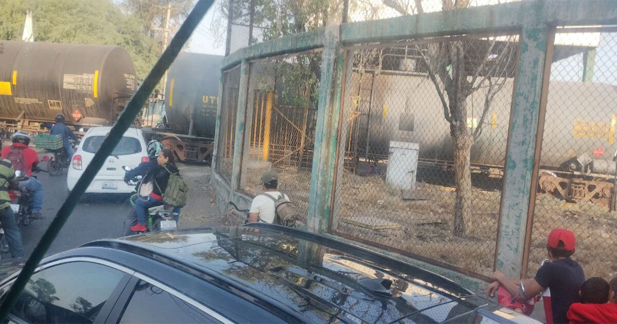
[[[296,206],[289,197],[278,191],[278,174],[273,171],[263,173],[263,193],[255,196],[249,210],[249,223],[276,223],[284,226],[296,225],[298,217]]]

